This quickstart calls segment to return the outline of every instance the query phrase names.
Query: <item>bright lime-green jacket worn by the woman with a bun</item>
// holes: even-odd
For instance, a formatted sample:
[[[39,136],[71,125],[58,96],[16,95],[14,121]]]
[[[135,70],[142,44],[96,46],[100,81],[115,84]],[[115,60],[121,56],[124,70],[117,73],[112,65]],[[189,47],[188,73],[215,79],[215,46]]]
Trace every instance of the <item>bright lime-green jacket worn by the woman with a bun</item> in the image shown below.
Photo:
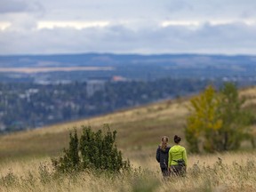
[[[186,148],[184,148],[180,145],[174,145],[169,150],[168,167],[170,167],[171,165],[178,164],[176,161],[178,161],[179,159],[183,159],[187,166],[188,160],[187,160]],[[175,160],[175,161],[173,161],[173,160]]]

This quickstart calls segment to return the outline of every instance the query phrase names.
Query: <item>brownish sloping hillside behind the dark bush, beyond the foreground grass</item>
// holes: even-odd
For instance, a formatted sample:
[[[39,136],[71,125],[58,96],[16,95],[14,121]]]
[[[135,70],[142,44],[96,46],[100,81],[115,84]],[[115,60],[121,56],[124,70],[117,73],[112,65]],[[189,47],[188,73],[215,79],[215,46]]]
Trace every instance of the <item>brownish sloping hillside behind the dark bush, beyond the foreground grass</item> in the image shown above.
[[[252,108],[256,113],[256,87],[241,90],[240,94],[247,98],[244,107]],[[155,156],[156,145],[163,135],[172,138],[174,134],[179,134],[183,138],[188,100],[165,100],[106,116],[4,135],[0,137],[0,161],[13,157],[56,156],[68,145],[68,132],[74,127],[79,131],[83,124],[91,125],[92,129],[109,124],[111,130],[117,131],[118,148],[129,158],[152,155],[153,151]],[[252,128],[256,135],[256,125]]]

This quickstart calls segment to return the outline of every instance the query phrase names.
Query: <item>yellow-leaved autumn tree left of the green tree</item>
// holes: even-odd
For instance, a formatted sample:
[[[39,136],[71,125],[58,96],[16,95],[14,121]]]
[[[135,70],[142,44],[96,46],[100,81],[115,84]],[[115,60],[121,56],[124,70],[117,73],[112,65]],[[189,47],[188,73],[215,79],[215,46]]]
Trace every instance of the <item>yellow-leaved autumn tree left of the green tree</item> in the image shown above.
[[[220,118],[220,97],[210,85],[190,103],[190,115],[185,129],[190,151],[198,153],[199,144],[202,143],[205,150],[212,152],[215,150],[213,137],[218,135],[223,124]]]

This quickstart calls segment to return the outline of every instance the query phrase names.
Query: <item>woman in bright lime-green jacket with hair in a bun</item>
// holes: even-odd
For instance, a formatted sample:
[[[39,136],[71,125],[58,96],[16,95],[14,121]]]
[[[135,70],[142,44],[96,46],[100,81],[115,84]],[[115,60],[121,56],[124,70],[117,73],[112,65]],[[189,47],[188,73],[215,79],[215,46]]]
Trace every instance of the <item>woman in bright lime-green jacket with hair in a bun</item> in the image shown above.
[[[171,175],[184,175],[187,169],[186,148],[180,146],[180,137],[175,135],[175,145],[169,150],[168,168]]]

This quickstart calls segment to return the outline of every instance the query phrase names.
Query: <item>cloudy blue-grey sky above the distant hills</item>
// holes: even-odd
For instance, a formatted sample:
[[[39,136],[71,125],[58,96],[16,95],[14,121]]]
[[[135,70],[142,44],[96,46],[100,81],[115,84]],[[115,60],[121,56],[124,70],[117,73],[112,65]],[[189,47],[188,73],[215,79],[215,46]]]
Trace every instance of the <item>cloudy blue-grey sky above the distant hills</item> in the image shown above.
[[[0,55],[255,55],[255,10],[255,0],[0,0]]]

